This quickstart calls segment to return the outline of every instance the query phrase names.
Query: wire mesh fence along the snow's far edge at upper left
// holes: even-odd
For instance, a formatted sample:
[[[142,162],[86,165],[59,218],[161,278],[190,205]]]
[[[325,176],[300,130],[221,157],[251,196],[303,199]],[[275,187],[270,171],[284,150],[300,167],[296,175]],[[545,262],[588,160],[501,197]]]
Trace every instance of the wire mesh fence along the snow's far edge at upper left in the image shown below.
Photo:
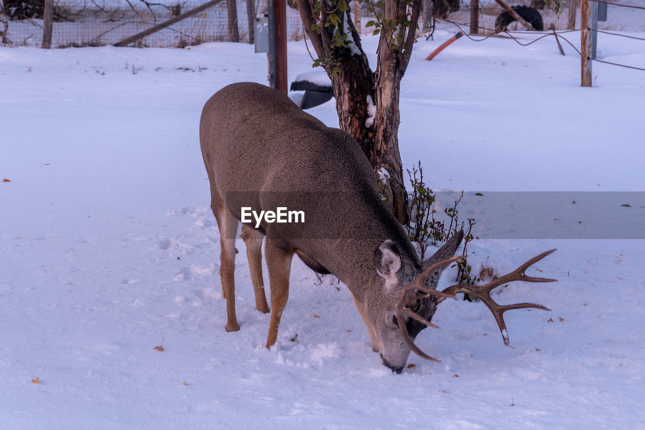
[[[286,1],[286,0],[285,0]],[[52,46],[112,45],[167,19],[188,12],[205,0],[56,0]],[[226,0],[137,41],[136,46],[182,47],[214,41],[250,42],[247,1],[235,1],[232,37]],[[266,0],[251,2],[252,16],[266,13]],[[0,0],[0,38],[11,45],[37,45],[43,38],[44,0]],[[296,10],[287,8],[288,34],[301,34]],[[300,36],[301,37],[301,36]]]

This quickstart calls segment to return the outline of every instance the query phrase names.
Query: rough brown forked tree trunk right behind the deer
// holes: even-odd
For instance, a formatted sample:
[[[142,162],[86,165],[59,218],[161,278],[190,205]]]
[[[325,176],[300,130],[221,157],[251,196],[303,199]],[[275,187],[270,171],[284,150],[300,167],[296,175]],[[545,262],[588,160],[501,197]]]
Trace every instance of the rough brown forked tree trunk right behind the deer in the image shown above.
[[[348,39],[355,43],[351,49],[332,46],[335,27],[328,28],[321,24],[326,22],[326,13],[332,13],[324,10],[324,7],[328,7],[331,11],[329,5],[325,6],[323,2],[320,19],[313,18],[312,7],[315,0],[297,0],[297,5],[304,30],[319,61],[332,79],[339,126],[356,139],[376,172],[382,169],[387,171],[389,179],[385,198],[393,214],[401,223],[405,223],[407,199],[398,139],[401,121],[399,92],[401,78],[408,65],[406,58],[412,52],[421,0],[414,1],[409,17],[413,24],[408,33],[395,34],[399,37],[397,48],[392,48],[391,31],[381,33],[376,73],[370,69],[349,12],[335,11],[341,17],[341,28],[350,36]],[[404,1],[384,1],[382,13],[384,20],[393,20],[401,25],[408,19]],[[320,32],[312,28],[315,25],[321,26]]]

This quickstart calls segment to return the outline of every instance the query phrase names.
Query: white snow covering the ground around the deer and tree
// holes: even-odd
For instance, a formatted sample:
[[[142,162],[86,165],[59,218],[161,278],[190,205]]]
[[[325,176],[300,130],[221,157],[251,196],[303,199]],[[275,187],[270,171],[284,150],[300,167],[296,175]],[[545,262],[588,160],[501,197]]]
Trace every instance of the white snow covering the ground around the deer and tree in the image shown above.
[[[401,89],[404,167],[421,159],[433,189],[481,198],[642,191],[643,72],[594,63],[595,86],[581,88],[579,57],[548,38],[462,37],[424,61],[452,34],[415,44]],[[374,67],[377,41],[362,43]],[[642,41],[599,43],[609,61],[645,67]],[[288,50],[292,81],[312,61],[302,42]],[[484,305],[446,300],[433,318],[442,329],[417,338],[442,362],[410,356],[401,375],[372,352],[346,287],[294,259],[268,351],[241,240],[241,330],[224,330],[198,136],[206,99],[228,83],[264,83],[266,56],[230,43],[0,47],[0,74],[0,180],[10,180],[0,182],[1,427],[642,428],[642,239],[469,243],[473,270],[498,274],[557,248],[527,274],[559,282],[493,294],[552,311],[508,312],[510,350]],[[337,125],[333,101],[309,112]],[[615,209],[642,219],[642,206]],[[476,215],[482,227],[486,216]],[[440,287],[454,277],[446,271]]]

